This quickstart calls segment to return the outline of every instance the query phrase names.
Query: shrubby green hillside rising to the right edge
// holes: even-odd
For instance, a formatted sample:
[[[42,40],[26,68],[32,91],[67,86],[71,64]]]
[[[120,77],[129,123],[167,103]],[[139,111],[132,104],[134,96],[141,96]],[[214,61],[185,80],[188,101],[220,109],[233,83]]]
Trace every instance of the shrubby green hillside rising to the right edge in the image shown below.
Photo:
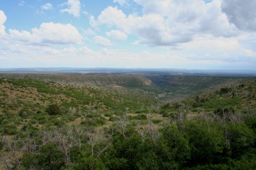
[[[243,79],[225,86],[205,89],[188,100],[195,108],[206,111],[233,108],[233,112],[256,111],[256,79]]]

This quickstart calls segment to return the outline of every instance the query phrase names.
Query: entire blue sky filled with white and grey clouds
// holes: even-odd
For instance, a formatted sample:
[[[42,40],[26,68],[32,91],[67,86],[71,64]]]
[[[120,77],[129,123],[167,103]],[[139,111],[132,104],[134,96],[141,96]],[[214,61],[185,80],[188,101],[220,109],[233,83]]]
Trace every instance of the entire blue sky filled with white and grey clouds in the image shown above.
[[[255,0],[0,0],[0,68],[256,70]]]

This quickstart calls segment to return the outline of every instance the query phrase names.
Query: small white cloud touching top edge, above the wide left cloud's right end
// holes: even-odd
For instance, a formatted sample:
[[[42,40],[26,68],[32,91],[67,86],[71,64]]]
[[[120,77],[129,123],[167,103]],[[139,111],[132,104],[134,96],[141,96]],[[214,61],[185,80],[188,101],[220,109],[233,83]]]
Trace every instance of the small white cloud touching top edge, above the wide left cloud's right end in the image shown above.
[[[60,10],[61,13],[69,13],[74,17],[80,17],[80,0],[68,0],[67,3],[62,4],[62,6],[68,6],[63,10]]]

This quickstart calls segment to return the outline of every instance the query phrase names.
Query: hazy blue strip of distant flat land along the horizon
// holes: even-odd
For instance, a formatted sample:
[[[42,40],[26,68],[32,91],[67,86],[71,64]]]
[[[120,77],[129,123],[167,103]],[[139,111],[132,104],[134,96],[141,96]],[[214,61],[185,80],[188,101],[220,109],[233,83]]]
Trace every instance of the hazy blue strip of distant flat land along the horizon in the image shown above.
[[[1,73],[69,73],[69,74],[167,74],[255,77],[256,70],[186,70],[171,68],[0,68]]]

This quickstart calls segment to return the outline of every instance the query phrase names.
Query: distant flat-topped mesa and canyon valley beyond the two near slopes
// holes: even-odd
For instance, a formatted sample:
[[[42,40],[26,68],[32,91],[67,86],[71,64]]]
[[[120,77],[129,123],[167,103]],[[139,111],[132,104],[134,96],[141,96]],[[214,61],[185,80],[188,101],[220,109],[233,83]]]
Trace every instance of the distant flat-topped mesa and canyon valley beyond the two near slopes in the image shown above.
[[[189,75],[73,75],[1,73],[0,77],[10,79],[34,79],[62,82],[73,85],[87,85],[111,89],[137,89],[148,93],[160,102],[180,102],[192,94],[209,87],[235,82],[239,77],[210,77]]]

